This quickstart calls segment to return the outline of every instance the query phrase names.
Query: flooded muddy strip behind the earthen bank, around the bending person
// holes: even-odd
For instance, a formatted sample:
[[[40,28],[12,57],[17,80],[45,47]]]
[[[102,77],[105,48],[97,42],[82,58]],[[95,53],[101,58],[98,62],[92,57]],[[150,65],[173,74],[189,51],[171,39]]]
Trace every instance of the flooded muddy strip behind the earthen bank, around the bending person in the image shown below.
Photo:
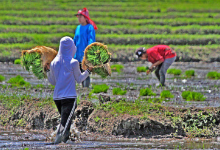
[[[175,62],[171,68],[178,68],[182,70],[182,74],[185,70],[193,69],[195,70],[196,76],[192,78],[183,78],[182,76],[173,76],[167,74],[165,88],[158,88],[159,84],[157,78],[154,74],[146,75],[145,73],[137,73],[137,66],[150,66],[150,63],[132,62],[123,64],[124,70],[122,73],[113,72],[111,77],[107,79],[101,79],[97,75],[91,75],[91,84],[101,84],[106,83],[110,86],[108,90],[108,95],[111,95],[113,99],[124,98],[127,101],[135,101],[139,97],[139,91],[141,88],[150,87],[160,96],[162,90],[170,90],[174,94],[174,98],[170,99],[168,102],[164,102],[164,105],[173,105],[176,107],[219,107],[220,106],[220,80],[210,80],[206,78],[206,74],[209,71],[220,72],[220,63],[202,63],[202,62]],[[0,74],[6,77],[6,81],[15,77],[16,75],[21,75],[26,81],[30,82],[32,85],[43,84],[46,87],[49,83],[46,79],[38,80],[33,74],[25,71],[20,65],[0,63]],[[0,84],[7,84],[6,82]],[[127,90],[126,95],[117,96],[112,95],[112,89],[114,87],[121,87]],[[82,89],[81,84],[78,84],[78,95],[88,95],[90,90]],[[187,102],[182,99],[181,93],[185,90],[201,92],[205,95],[206,100],[203,102]],[[50,97],[53,94],[53,90],[47,88],[31,88],[31,89],[0,89],[0,92],[7,93],[7,95],[18,94],[22,95],[24,93],[29,93],[34,97]],[[95,95],[95,94],[94,94]],[[144,97],[143,97],[144,98]],[[95,100],[94,100],[95,101]]]

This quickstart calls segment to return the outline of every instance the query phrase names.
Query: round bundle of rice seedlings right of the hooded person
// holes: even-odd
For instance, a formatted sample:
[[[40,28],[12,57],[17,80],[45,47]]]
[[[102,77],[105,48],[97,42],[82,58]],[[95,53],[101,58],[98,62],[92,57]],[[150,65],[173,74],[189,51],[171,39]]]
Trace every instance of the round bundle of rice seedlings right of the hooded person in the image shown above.
[[[93,67],[94,73],[102,78],[106,78],[108,75],[111,75],[110,59],[111,53],[108,52],[107,46],[94,42],[85,49],[82,68],[86,70],[87,67]]]

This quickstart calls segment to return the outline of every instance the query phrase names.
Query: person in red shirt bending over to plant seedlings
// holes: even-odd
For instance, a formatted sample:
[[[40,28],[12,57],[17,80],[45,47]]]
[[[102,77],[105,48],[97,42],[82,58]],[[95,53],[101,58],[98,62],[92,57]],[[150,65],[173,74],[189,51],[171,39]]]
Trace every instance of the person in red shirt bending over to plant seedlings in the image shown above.
[[[165,86],[165,76],[167,69],[176,60],[176,52],[167,45],[157,45],[149,49],[144,47],[138,48],[135,52],[138,58],[142,60],[148,59],[152,63],[147,74],[156,67],[155,75],[162,86]]]

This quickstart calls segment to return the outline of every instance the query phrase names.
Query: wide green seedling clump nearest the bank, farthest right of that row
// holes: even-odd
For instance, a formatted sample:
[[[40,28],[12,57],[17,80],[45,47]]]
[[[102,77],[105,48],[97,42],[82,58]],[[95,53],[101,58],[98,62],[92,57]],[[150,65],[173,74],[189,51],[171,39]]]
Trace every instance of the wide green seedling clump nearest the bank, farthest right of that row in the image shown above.
[[[206,99],[203,94],[191,91],[182,92],[182,97],[187,101],[204,101]]]

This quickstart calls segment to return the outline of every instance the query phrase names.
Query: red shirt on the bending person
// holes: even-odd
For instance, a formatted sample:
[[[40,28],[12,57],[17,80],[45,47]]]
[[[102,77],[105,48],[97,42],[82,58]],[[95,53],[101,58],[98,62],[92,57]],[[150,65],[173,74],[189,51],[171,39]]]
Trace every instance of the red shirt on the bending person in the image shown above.
[[[148,61],[153,64],[159,60],[164,61],[165,59],[176,56],[176,53],[167,45],[157,45],[151,47],[147,49],[146,53],[148,55]]]

